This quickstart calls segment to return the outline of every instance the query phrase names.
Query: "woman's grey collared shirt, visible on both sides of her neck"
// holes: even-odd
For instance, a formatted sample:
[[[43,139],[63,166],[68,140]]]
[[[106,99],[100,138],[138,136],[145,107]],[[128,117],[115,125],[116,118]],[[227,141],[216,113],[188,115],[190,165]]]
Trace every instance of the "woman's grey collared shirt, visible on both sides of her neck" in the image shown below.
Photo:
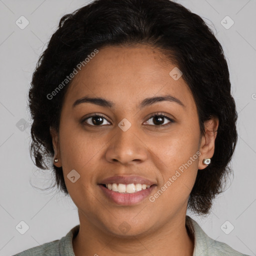
[[[193,256],[249,256],[232,249],[226,243],[213,240],[201,229],[195,220],[187,215],[185,223],[190,233],[194,236]],[[79,226],[74,226],[59,240],[43,243],[13,256],[75,256],[72,238],[78,233]]]

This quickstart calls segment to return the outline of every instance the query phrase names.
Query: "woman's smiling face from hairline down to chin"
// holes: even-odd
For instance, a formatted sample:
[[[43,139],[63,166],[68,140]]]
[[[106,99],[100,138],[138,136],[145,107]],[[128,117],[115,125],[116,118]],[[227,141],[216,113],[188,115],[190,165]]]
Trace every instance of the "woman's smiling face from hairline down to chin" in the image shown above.
[[[106,233],[136,235],[185,215],[197,169],[213,151],[200,135],[192,94],[173,68],[149,46],[108,46],[73,78],[61,110],[54,164],[63,168],[80,222]],[[161,96],[169,100],[149,100]],[[112,106],[99,100],[74,105],[83,97],[100,97]],[[113,176],[138,177],[103,181]],[[140,183],[153,185],[122,193],[102,183],[121,183],[119,189],[134,183],[135,190]]]

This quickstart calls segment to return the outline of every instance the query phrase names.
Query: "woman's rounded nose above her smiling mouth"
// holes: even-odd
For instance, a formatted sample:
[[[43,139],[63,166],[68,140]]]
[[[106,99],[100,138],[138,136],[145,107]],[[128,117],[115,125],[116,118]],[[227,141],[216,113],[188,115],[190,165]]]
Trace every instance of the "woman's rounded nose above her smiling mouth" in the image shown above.
[[[106,160],[121,164],[134,164],[145,161],[147,147],[143,137],[142,133],[132,125],[126,131],[116,126],[116,133],[106,147]]]

